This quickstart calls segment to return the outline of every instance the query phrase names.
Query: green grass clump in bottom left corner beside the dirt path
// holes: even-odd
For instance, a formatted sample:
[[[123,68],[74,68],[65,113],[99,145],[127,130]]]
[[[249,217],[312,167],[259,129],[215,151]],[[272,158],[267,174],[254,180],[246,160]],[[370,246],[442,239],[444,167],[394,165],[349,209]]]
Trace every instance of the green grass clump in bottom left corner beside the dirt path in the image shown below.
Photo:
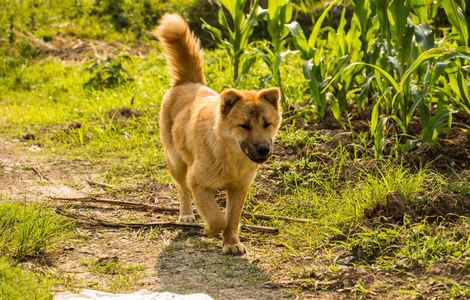
[[[73,223],[37,205],[0,202],[0,299],[52,299],[54,279],[19,262],[53,252]]]

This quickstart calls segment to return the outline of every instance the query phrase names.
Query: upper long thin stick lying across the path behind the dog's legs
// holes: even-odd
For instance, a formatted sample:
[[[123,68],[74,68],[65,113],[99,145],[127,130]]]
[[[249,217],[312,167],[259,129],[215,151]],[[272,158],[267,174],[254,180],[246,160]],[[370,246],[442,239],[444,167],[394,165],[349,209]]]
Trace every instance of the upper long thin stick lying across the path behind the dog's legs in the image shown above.
[[[81,198],[69,198],[69,197],[49,197],[52,200],[59,200],[59,201],[80,201],[80,202],[97,202],[97,203],[106,203],[112,205],[119,205],[123,207],[131,207],[134,209],[145,209],[152,212],[171,212],[171,213],[178,213],[179,208],[177,207],[166,207],[166,206],[159,206],[153,204],[145,204],[145,203],[135,203],[135,202],[128,202],[128,201],[118,201],[112,199],[103,199],[103,198],[96,198],[96,197],[81,197]],[[196,212],[196,210],[194,210]],[[301,222],[301,223],[312,223],[313,220],[309,219],[299,219],[299,218],[291,218],[285,216],[273,216],[273,215],[265,215],[265,214],[251,214],[251,213],[243,213],[242,216],[247,218],[255,218],[258,220],[283,220],[283,221],[292,221],[292,222]]]

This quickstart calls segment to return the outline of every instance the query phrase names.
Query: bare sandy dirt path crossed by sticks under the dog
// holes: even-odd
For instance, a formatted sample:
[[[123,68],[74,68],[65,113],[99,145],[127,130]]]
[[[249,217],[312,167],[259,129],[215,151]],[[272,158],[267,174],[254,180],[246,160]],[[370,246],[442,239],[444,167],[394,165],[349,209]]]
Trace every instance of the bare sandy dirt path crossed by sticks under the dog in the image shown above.
[[[0,199],[51,201],[48,197],[82,197],[103,193],[88,178],[100,178],[100,166],[44,155],[37,146],[20,141],[0,140]],[[169,187],[150,189],[159,204],[174,205]],[[141,200],[149,201],[149,197]],[[147,199],[147,200],[145,200]],[[128,200],[128,199],[127,199]],[[56,205],[57,203],[52,203]],[[77,208],[108,219],[155,221],[175,216],[100,206]],[[243,257],[221,254],[221,242],[197,231],[154,229],[77,228],[77,238],[59,250],[26,263],[58,278],[57,291],[91,288],[119,292],[165,290],[178,293],[207,293],[215,299],[289,298],[272,283],[253,251]],[[249,235],[242,235],[251,243]],[[109,268],[111,266],[111,268]]]

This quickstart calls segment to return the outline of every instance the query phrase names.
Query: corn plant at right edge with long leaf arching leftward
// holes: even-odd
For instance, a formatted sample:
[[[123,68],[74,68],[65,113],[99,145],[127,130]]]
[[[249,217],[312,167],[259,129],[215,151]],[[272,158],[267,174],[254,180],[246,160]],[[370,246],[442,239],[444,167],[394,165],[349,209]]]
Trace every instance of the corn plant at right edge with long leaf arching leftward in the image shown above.
[[[343,73],[357,66],[366,66],[374,69],[392,86],[392,89],[387,91],[387,94],[390,93],[391,96],[385,97],[385,95],[383,95],[374,104],[370,120],[370,131],[372,136],[374,136],[375,154],[379,156],[382,151],[386,133],[390,130],[390,126],[388,126],[390,125],[390,121],[393,121],[403,134],[407,134],[408,125],[415,115],[416,110],[419,109],[422,126],[421,140],[423,142],[429,142],[435,140],[444,127],[451,125],[452,119],[450,118],[451,111],[449,109],[451,102],[457,102],[457,105],[467,106],[467,111],[470,112],[470,110],[468,110],[468,88],[465,88],[465,82],[462,76],[459,77],[460,81],[456,79],[456,83],[451,87],[451,91],[435,86],[444,71],[452,72],[450,76],[455,76],[454,74],[458,72],[461,74],[462,70],[456,63],[458,59],[470,61],[470,49],[468,47],[458,47],[456,49],[429,49],[417,57],[411,66],[403,73],[400,80],[395,80],[393,74],[388,73],[379,66],[364,62],[355,62],[338,73],[322,92],[327,90],[329,85],[340,78]],[[416,88],[410,89],[410,85],[406,83],[409,83],[417,70],[426,64],[428,72],[423,83],[415,82]],[[433,67],[431,67],[431,65],[433,65]],[[451,78],[450,76],[449,78]],[[411,99],[414,100],[414,102],[407,103],[406,107],[404,106],[405,104],[395,105],[395,103],[400,102],[400,100],[404,99],[407,95],[412,96]],[[436,96],[435,100],[437,101],[428,101],[426,104],[425,100],[432,98],[431,96]],[[385,103],[387,100],[390,100],[391,103]],[[398,111],[381,115],[381,107],[383,106],[397,107]],[[434,115],[430,113],[432,108],[435,108]]]

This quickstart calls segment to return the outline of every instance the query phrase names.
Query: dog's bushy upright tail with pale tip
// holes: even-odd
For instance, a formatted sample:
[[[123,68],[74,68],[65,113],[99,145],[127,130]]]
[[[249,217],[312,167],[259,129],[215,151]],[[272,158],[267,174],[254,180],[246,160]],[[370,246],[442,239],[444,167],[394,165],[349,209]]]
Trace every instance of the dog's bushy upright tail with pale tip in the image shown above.
[[[172,86],[190,82],[206,84],[199,40],[181,16],[165,14],[153,34],[165,50]]]

